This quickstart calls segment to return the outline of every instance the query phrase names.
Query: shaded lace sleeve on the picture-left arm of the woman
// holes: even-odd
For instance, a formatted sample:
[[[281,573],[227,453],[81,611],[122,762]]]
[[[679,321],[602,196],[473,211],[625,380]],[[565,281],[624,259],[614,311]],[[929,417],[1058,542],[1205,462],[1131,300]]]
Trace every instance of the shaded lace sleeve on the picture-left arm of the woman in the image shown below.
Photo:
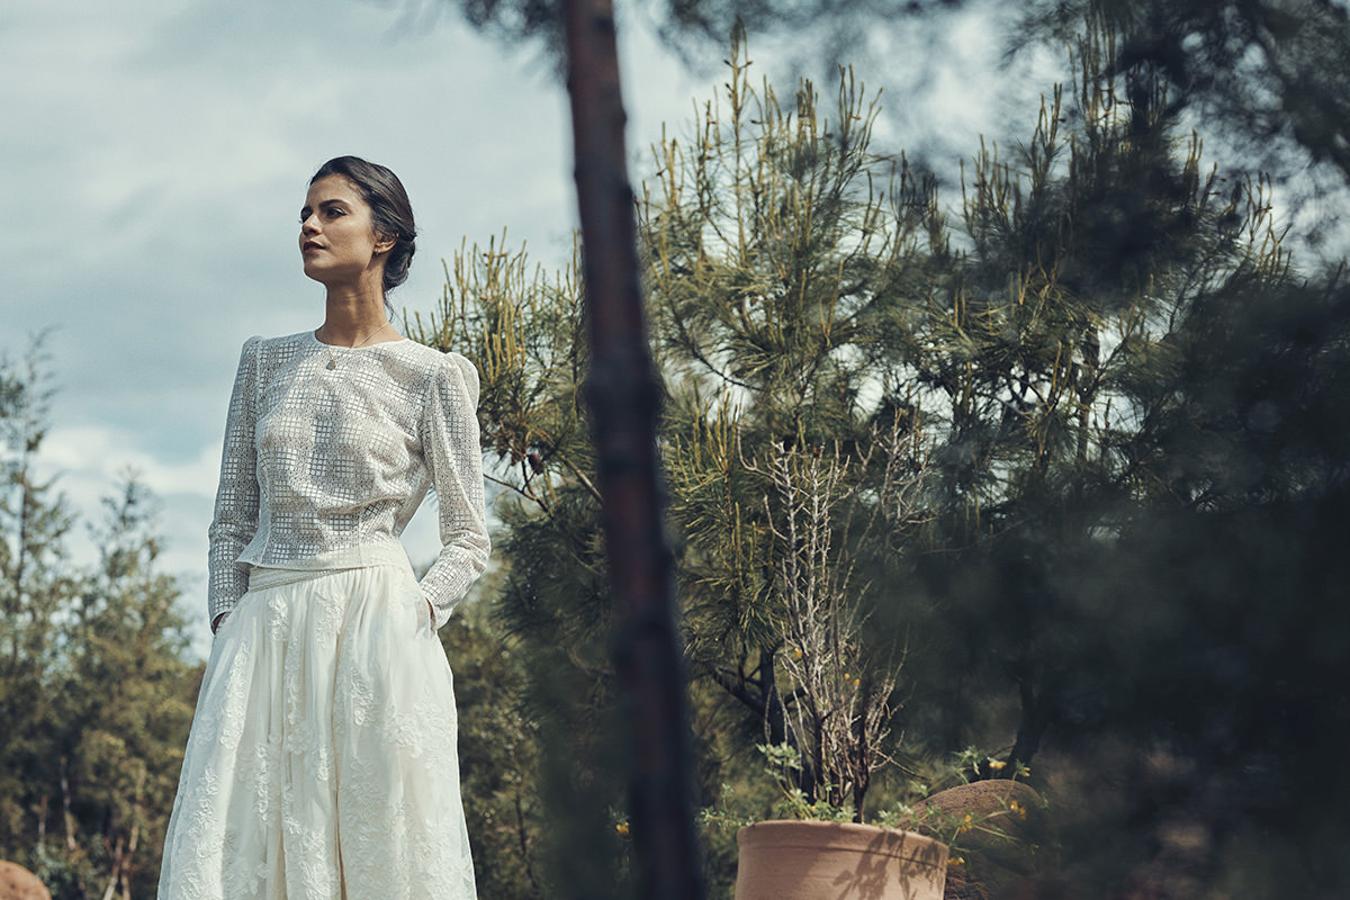
[[[207,536],[211,541],[207,568],[207,621],[235,607],[248,590],[248,573],[235,564],[239,553],[258,532],[258,475],[254,445],[254,383],[256,382],[258,341],[254,335],[239,352],[239,368],[225,414],[225,441],[220,453],[220,483],[216,509]],[[228,617],[227,617],[228,618]]]

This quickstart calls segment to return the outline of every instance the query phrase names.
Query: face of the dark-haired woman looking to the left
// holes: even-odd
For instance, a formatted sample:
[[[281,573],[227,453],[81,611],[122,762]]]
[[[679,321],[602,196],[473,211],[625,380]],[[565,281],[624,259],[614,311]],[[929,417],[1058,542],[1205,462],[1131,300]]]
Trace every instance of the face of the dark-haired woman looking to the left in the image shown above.
[[[300,256],[305,274],[325,285],[382,277],[393,239],[377,239],[370,206],[343,175],[309,185],[300,209]]]

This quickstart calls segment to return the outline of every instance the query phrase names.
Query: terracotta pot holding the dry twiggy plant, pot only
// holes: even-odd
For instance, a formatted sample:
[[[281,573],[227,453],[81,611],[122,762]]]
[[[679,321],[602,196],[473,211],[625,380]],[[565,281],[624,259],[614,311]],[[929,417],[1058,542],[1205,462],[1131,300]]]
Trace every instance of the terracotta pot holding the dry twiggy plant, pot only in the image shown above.
[[[852,822],[770,819],[736,833],[736,900],[942,900],[948,846]]]

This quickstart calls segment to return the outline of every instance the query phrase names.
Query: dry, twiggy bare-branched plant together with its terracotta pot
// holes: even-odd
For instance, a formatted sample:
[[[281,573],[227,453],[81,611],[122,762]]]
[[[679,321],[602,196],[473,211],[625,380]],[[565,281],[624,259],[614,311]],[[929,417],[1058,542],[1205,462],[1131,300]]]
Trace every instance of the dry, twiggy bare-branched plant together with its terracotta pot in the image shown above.
[[[918,429],[892,426],[890,437],[864,529],[883,510],[895,525],[917,507],[923,467],[905,464],[914,461]],[[899,452],[906,441],[910,452]],[[938,830],[871,824],[861,814],[872,773],[898,765],[886,739],[900,671],[894,657],[883,663],[864,650],[867,615],[849,584],[852,565],[836,549],[857,517],[836,522],[834,511],[859,495],[864,480],[849,478],[850,463],[837,447],[826,455],[802,441],[778,445],[767,463],[742,464],[770,488],[764,521],[779,599],[776,657],[792,690],[783,706],[790,739],[759,745],[782,788],[780,818],[738,824],[736,900],[940,900],[949,843]]]

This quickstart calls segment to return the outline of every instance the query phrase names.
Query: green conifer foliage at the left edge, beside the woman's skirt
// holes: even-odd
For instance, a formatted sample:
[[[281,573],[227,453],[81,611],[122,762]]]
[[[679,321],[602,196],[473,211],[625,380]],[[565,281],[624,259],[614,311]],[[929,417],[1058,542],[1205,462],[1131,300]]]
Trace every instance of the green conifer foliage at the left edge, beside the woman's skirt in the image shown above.
[[[15,376],[0,583],[0,857],[57,897],[151,896],[200,665],[178,587],[157,571],[157,509],[135,476],[92,524],[100,561],[66,561],[73,517],[32,479],[46,429],[40,371]]]

